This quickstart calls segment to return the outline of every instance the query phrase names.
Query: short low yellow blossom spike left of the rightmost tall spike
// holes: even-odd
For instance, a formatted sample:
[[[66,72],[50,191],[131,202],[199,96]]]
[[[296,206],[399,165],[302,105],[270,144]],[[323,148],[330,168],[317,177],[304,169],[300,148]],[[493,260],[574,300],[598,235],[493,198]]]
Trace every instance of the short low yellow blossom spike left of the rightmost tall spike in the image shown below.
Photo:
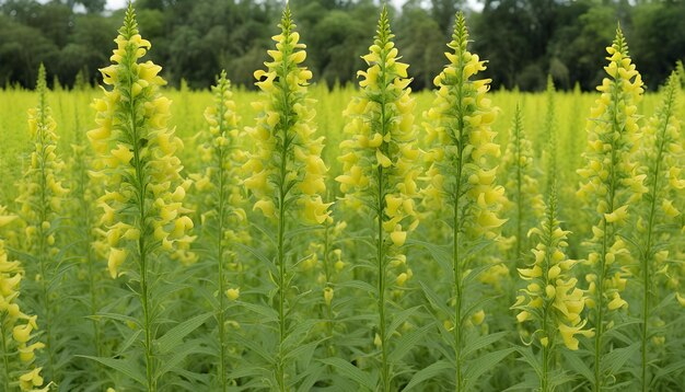
[[[545,219],[529,232],[538,243],[532,250],[533,263],[519,268],[519,276],[527,286],[520,290],[512,309],[520,311],[516,314],[520,323],[534,323],[535,335],[544,347],[560,336],[566,347],[576,350],[579,344],[576,335],[591,337],[594,332],[584,328],[588,320],[581,313],[588,298],[571,274],[577,262],[565,254],[568,234],[556,218],[556,195],[553,195]]]

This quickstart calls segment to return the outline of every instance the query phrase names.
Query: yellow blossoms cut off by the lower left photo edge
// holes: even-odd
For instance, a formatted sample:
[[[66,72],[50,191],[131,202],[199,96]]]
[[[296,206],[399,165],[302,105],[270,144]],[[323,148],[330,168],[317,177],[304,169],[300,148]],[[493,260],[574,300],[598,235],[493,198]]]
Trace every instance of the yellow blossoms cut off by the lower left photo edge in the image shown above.
[[[15,216],[8,215],[5,208],[0,206],[0,228],[12,222],[15,218]],[[0,336],[0,338],[8,343],[12,342],[11,344],[3,344],[3,347],[15,347],[16,353],[19,353],[19,361],[5,360],[5,366],[21,364],[22,367],[31,367],[35,359],[34,351],[45,347],[42,342],[30,343],[34,336],[33,332],[38,328],[37,316],[25,314],[16,303],[23,275],[24,272],[20,262],[9,260],[4,241],[0,239],[0,323],[2,323],[2,331],[12,331],[11,339],[9,336]],[[7,358],[11,353],[1,353],[1,355]],[[22,370],[22,368],[5,369],[4,374],[15,370]],[[43,385],[40,370],[40,368],[33,368],[20,376],[19,381],[22,391],[36,391],[36,388]],[[9,382],[9,380],[5,381]]]

